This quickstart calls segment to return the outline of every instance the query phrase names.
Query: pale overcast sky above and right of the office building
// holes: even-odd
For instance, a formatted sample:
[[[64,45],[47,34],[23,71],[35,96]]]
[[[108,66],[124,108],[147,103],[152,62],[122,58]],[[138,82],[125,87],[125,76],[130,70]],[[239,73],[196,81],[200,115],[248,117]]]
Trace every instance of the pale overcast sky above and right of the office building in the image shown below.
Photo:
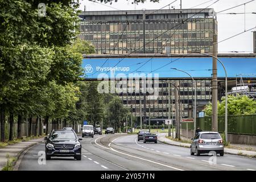
[[[163,6],[168,5],[174,0],[159,0],[159,3],[150,2],[147,0],[145,3],[139,3],[139,5],[133,5],[131,2],[133,0],[118,0],[118,2],[107,3],[101,5],[101,3],[95,3],[88,0],[80,0],[80,9],[84,10],[84,6],[86,11],[107,11],[107,10],[157,10],[162,8]],[[182,0],[182,9],[189,9],[193,6],[200,5],[201,3],[207,2],[209,0]],[[211,3],[216,0],[212,0],[204,5],[197,6],[196,8],[202,8],[209,6]],[[233,7],[236,5],[240,5],[245,2],[249,2],[251,0],[220,0],[209,8],[213,8],[214,11],[218,12],[224,9],[228,9],[229,7]],[[100,2],[100,1],[98,1]],[[110,7],[108,7],[110,6]],[[171,6],[174,6],[175,9],[180,9],[180,0],[173,3]],[[113,8],[112,8],[113,7]],[[115,9],[114,9],[115,8]],[[168,9],[166,7],[165,9]],[[256,13],[256,1],[247,3],[245,6],[242,5],[240,7],[236,7],[234,9],[224,11],[223,13],[243,13],[244,10],[246,13]],[[256,14],[217,14],[218,21],[218,41],[229,38],[232,35],[239,34],[243,32],[245,29],[248,30],[256,26]],[[256,28],[251,31],[256,31]],[[222,43],[218,44],[218,52],[229,52],[229,51],[240,51],[240,52],[253,52],[253,32],[247,31],[241,35],[238,35],[232,39],[226,40]]]

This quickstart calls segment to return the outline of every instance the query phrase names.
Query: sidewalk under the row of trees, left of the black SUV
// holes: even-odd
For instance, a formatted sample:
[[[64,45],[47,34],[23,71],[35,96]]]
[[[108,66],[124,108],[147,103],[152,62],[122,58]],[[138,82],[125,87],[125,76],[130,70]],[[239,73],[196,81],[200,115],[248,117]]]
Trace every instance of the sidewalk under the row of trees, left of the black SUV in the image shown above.
[[[39,142],[42,142],[43,138],[40,139],[32,139],[27,142],[19,142],[16,144],[11,144],[6,147],[0,148],[0,170],[6,166],[7,158],[6,155],[9,154],[10,158],[16,157],[26,150],[28,147],[31,147]]]

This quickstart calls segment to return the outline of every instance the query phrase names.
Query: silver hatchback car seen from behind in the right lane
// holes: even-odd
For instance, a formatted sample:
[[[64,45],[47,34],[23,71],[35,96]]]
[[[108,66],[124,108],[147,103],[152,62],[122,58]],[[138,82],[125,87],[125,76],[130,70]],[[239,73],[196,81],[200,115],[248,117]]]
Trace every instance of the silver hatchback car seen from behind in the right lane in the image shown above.
[[[203,131],[196,134],[195,138],[191,138],[190,154],[200,155],[215,151],[220,156],[224,155],[224,144],[221,135],[218,132]]]

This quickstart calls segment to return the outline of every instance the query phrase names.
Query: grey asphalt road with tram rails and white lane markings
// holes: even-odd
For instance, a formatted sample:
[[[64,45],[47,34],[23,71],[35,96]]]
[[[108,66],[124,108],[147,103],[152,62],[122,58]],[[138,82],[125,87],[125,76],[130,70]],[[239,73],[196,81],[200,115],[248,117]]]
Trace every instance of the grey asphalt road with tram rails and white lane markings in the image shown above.
[[[189,148],[160,142],[137,142],[137,135],[94,135],[94,138],[83,138],[81,143],[82,160],[52,158],[46,164],[38,162],[38,152],[44,151],[44,143],[39,143],[23,156],[19,170],[256,170],[255,158],[228,154],[216,158],[208,155],[191,156]],[[214,159],[216,163],[213,164]]]

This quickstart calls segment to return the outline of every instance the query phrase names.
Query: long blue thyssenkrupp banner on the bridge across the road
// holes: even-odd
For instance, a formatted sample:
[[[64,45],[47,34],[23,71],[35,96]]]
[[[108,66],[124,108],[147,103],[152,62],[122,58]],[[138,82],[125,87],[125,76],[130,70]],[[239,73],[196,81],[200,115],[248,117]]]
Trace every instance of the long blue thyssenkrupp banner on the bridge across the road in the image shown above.
[[[228,77],[240,74],[254,74],[256,77],[255,57],[219,57],[224,64]],[[154,77],[159,78],[189,77],[187,74],[172,68],[181,69],[192,77],[212,77],[212,57],[154,57],[154,58],[90,58],[82,60],[84,77]],[[222,65],[218,63],[218,77],[225,77]],[[112,73],[112,74],[111,74]]]

